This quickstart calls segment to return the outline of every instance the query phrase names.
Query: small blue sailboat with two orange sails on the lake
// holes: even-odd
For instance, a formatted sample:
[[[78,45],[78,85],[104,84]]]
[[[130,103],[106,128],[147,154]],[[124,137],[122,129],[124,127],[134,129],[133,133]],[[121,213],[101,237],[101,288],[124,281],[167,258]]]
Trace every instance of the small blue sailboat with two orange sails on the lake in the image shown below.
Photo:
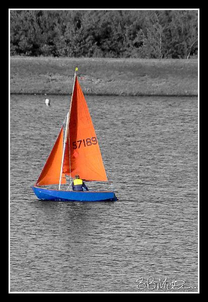
[[[116,201],[117,198],[112,189],[106,191],[72,190],[72,179],[76,175],[85,182],[108,182],[94,125],[76,71],[78,71],[77,67],[66,122],[63,122],[32,189],[41,200]],[[70,185],[63,190],[61,185],[66,184],[68,177],[70,177]],[[58,185],[58,189],[46,187],[50,185]]]

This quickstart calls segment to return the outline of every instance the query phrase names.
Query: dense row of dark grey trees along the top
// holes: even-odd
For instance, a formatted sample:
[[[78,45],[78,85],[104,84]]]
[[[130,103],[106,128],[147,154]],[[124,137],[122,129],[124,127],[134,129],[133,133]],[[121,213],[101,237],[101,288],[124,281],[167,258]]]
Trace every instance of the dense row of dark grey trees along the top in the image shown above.
[[[197,11],[10,11],[11,55],[188,58]]]

